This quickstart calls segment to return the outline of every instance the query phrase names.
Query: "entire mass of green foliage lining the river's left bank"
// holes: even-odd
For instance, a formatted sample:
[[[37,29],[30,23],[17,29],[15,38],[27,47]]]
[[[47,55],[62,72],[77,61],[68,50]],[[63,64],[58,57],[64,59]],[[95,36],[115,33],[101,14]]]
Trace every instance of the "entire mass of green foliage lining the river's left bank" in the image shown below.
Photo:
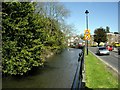
[[[44,64],[48,50],[64,47],[59,23],[35,13],[35,3],[2,3],[2,71],[23,75]]]

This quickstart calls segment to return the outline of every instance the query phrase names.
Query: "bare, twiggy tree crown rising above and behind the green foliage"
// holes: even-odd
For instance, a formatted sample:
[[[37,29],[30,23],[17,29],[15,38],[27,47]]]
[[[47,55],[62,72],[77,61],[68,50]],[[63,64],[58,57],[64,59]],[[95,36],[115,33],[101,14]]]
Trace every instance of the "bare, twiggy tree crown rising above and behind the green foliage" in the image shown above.
[[[64,21],[64,19],[69,16],[70,11],[58,2],[39,2],[36,5],[36,12],[44,15],[45,17],[50,17],[59,22]]]

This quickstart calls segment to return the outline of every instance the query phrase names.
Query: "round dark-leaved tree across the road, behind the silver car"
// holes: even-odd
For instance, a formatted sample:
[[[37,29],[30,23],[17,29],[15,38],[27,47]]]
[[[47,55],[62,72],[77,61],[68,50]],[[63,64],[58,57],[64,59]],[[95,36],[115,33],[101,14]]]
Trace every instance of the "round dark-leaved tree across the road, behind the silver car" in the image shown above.
[[[100,42],[106,42],[107,41],[107,35],[104,28],[97,28],[94,31],[94,41],[98,43],[98,46]]]

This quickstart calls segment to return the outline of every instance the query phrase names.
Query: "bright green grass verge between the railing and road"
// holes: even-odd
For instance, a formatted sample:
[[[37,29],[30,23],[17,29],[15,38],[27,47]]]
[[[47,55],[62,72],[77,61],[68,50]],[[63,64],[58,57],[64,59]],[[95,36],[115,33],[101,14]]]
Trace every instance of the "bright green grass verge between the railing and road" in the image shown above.
[[[118,78],[92,53],[85,54],[86,87],[118,88]]]

